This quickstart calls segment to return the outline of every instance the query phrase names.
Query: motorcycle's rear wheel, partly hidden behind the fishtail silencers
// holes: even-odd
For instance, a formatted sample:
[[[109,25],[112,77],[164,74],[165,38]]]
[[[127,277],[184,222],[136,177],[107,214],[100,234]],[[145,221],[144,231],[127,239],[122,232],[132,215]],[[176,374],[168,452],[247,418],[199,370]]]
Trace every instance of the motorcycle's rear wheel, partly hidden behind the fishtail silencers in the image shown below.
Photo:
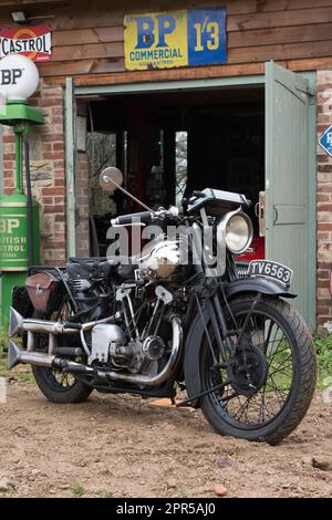
[[[37,318],[37,316],[35,316]],[[68,320],[70,318],[70,309],[66,304],[52,315],[45,316],[39,313],[38,318],[44,320]],[[48,336],[41,334],[39,336],[39,344],[37,346],[40,351],[46,351]],[[74,360],[81,362],[82,360]],[[76,379],[72,374],[62,373],[58,370],[45,368],[42,366],[32,366],[32,374],[35,383],[43,395],[56,404],[82,403],[87,399],[93,388],[85,385],[82,381]]]

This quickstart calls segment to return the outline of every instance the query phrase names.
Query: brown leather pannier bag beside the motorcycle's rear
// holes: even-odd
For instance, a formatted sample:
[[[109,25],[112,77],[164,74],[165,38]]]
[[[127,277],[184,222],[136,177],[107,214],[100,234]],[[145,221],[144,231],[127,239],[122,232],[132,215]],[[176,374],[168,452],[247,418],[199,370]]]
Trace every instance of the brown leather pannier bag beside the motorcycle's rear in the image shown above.
[[[60,282],[49,272],[38,272],[27,278],[25,288],[33,308],[48,312],[51,297],[56,294],[55,299],[59,300],[59,285]]]

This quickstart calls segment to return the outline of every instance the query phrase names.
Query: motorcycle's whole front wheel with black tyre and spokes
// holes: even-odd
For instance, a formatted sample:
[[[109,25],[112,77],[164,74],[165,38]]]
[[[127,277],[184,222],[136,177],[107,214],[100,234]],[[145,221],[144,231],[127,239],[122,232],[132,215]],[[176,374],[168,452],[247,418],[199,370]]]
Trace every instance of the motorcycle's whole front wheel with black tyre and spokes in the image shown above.
[[[237,330],[243,327],[252,302],[250,297],[231,302]],[[231,318],[228,326],[235,329]],[[237,340],[235,333],[231,341]],[[314,392],[315,357],[310,331],[292,306],[262,298],[246,324],[231,366],[220,368],[220,362],[215,340],[211,344],[206,340],[200,360],[203,391],[218,388],[200,405],[220,434],[277,444],[299,425]]]

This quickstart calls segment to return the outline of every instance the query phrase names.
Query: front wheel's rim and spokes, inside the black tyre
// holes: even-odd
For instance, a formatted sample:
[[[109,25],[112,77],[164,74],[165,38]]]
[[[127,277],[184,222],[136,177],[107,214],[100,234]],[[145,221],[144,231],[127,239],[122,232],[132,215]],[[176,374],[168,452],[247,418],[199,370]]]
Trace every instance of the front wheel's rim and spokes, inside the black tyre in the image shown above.
[[[236,314],[240,329],[248,311]],[[290,399],[294,383],[294,349],[289,334],[267,311],[256,310],[242,335],[246,350],[259,350],[266,358],[266,374],[258,389],[251,395],[241,395],[241,386],[230,384],[208,394],[218,415],[236,428],[262,428],[274,420]],[[237,335],[231,336],[232,343]],[[206,357],[205,386],[212,388],[229,379],[229,371],[214,367],[214,357],[220,362],[216,342],[215,354],[208,350]],[[207,347],[208,349],[208,347]]]

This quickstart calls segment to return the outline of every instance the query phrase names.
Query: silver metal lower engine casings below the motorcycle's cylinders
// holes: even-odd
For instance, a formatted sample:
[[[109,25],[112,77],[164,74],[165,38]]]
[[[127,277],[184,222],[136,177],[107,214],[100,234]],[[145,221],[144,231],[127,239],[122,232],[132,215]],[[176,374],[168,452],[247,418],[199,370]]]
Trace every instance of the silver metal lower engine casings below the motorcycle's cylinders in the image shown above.
[[[121,326],[98,323],[92,329],[89,363],[111,364],[133,373],[151,373],[157,370],[156,362],[164,352],[165,344],[159,336],[148,336],[144,341],[133,340],[127,343]]]

